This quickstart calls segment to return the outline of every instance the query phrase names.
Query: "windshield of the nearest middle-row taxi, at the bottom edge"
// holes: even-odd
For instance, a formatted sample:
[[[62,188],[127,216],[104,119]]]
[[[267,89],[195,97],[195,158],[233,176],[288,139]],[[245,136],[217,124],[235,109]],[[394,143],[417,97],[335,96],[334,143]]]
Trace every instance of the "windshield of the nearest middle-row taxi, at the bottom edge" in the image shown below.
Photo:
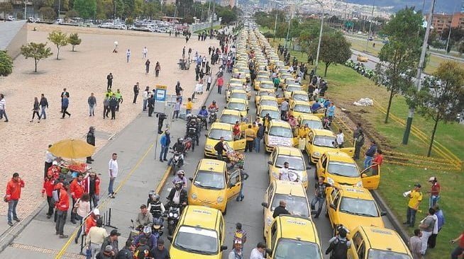
[[[280,238],[274,252],[275,259],[321,259],[319,245],[307,241]]]

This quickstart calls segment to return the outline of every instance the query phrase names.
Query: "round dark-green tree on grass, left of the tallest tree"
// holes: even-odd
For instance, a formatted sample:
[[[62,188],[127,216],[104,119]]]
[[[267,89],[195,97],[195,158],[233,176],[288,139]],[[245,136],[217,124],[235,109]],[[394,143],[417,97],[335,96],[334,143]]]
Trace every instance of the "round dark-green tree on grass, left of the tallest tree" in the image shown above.
[[[319,38],[314,40],[314,44],[309,47],[310,53],[317,52]],[[324,76],[327,76],[328,66],[331,64],[343,64],[351,57],[351,43],[343,37],[341,32],[334,32],[322,35],[319,60],[326,64]]]

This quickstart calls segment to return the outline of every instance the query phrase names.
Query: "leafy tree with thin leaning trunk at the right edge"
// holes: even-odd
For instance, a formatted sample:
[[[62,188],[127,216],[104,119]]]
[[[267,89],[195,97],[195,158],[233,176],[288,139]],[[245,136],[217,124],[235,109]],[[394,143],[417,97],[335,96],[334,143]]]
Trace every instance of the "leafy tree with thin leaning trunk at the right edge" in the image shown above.
[[[437,84],[437,82],[440,82]],[[446,61],[419,92],[419,113],[431,118],[433,125],[427,156],[430,156],[438,122],[453,122],[464,110],[464,68],[458,62]]]

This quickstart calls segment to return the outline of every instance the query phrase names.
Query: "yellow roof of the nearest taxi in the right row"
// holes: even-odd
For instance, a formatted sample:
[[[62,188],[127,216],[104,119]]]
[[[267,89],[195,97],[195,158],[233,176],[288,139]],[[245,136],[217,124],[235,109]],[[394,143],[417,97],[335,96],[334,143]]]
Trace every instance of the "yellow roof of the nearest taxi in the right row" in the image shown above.
[[[360,226],[359,229],[368,237],[371,248],[409,254],[406,244],[396,231],[377,226]]]

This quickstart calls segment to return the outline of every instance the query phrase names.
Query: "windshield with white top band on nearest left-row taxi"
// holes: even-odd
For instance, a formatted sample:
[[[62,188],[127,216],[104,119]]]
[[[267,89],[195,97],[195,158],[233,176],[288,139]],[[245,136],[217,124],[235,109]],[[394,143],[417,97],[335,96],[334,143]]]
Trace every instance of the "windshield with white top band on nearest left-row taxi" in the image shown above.
[[[173,246],[189,253],[214,255],[219,253],[216,231],[193,226],[180,226]]]

